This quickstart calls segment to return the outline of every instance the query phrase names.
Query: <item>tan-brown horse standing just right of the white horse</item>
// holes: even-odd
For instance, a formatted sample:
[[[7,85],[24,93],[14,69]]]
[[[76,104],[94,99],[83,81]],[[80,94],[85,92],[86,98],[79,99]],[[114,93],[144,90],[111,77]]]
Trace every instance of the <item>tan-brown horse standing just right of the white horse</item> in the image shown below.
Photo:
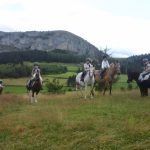
[[[107,88],[109,88],[109,94],[111,95],[112,83],[117,74],[120,74],[119,66],[118,64],[114,64],[114,63],[110,64],[110,67],[106,70],[103,79],[100,78],[100,70],[95,71],[96,82],[104,83],[103,95],[105,95]]]

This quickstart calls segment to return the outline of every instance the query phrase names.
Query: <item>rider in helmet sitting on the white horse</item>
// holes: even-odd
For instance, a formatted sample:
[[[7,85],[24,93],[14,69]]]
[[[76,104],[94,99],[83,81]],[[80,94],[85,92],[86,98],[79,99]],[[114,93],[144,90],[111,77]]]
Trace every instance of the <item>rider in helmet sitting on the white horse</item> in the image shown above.
[[[84,71],[81,75],[81,81],[84,81],[84,77],[86,73],[90,70],[90,67],[93,67],[91,64],[92,60],[90,58],[86,58],[86,62],[84,63]]]

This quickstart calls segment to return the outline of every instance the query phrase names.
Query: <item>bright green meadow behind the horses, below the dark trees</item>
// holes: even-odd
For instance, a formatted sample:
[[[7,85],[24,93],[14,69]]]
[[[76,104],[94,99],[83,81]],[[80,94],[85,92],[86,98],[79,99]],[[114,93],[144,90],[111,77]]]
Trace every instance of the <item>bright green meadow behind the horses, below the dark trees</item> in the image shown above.
[[[25,62],[26,65],[32,66],[33,64],[30,62]],[[40,63],[40,66],[55,66],[59,65],[59,63]],[[44,87],[43,87],[43,93],[47,92],[47,89],[45,87],[45,81],[50,80],[52,81],[53,79],[59,80],[60,84],[64,85],[65,87],[67,86],[67,79],[70,76],[77,75],[78,69],[82,68],[82,64],[65,64],[65,63],[60,63],[60,65],[66,66],[67,67],[67,72],[62,73],[62,74],[47,74],[47,75],[42,75],[43,81],[44,81]],[[26,82],[27,80],[30,79],[30,77],[24,77],[24,78],[6,78],[3,79],[5,88],[4,88],[4,93],[19,93],[23,94],[26,92]],[[127,90],[128,84],[126,83],[127,81],[127,75],[120,75],[119,79],[117,80],[116,83],[113,84],[112,90],[119,90],[119,91],[124,91]],[[137,88],[137,85],[135,82],[133,82],[133,88]],[[73,87],[74,89],[74,87]]]

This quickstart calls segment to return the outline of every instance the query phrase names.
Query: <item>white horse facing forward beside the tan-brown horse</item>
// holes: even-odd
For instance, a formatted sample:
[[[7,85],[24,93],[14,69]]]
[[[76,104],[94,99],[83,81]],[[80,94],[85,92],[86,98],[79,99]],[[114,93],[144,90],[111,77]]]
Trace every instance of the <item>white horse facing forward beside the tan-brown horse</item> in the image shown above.
[[[94,96],[94,83],[95,83],[95,76],[94,76],[94,67],[90,67],[90,70],[86,73],[84,77],[84,81],[81,81],[82,72],[78,73],[76,76],[76,91],[82,90],[84,88],[84,98],[87,98],[87,86],[90,85],[90,96],[93,98]],[[82,91],[81,91],[82,92]]]

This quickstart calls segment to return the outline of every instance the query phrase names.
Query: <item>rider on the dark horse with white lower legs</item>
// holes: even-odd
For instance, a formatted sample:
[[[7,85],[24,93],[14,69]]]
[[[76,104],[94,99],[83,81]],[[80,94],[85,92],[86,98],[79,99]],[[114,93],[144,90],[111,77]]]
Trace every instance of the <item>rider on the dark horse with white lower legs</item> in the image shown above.
[[[33,68],[32,68],[32,72],[31,72],[31,79],[29,81],[29,87],[31,86],[32,82],[35,80],[36,73],[39,73],[40,83],[42,85],[43,79],[41,77],[41,73],[40,72],[41,71],[40,71],[40,68],[39,68],[39,64],[38,63],[34,63]]]

